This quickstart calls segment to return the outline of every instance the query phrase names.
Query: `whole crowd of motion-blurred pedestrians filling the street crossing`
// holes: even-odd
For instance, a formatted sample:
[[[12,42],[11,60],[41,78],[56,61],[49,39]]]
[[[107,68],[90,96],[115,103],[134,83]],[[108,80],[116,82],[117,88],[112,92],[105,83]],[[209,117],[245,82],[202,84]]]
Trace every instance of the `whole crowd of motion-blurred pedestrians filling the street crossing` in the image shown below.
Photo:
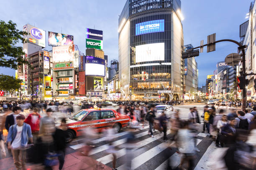
[[[95,129],[84,130],[84,158],[98,147],[95,140],[105,138],[108,144],[106,152],[112,156],[113,170],[116,170],[118,150],[124,148],[125,167],[132,169],[132,160],[135,150],[143,150],[138,145],[136,129],[143,130],[149,125],[148,135],[163,133],[162,142],[170,153],[176,150],[181,155],[179,169],[192,170],[195,168],[195,156],[200,150],[197,148],[197,134],[205,133],[210,140],[215,142],[216,148],[226,148],[221,161],[228,170],[256,169],[256,104],[251,103],[244,110],[230,108],[229,110],[217,109],[215,104],[205,105],[202,114],[197,107],[191,107],[188,111],[188,119],[180,118],[179,110],[157,110],[156,102],[146,101],[118,101],[117,112],[129,115],[129,123],[126,142],[115,145],[115,131],[111,128],[111,122],[103,133],[96,133]],[[173,105],[173,101],[164,101],[165,104]],[[3,104],[3,103],[1,103]],[[71,106],[69,106],[71,105]],[[93,105],[100,107],[100,103],[84,102],[84,107],[91,108]],[[192,106],[192,105],[191,105]],[[82,106],[83,107],[83,106]],[[65,109],[62,109],[65,108]],[[2,156],[6,156],[4,143],[13,155],[13,161],[17,169],[24,169],[26,161],[33,165],[34,169],[50,170],[59,165],[63,168],[67,138],[66,120],[56,126],[54,111],[72,112],[72,103],[59,102],[10,102],[0,117],[0,148]],[[46,112],[45,116],[41,116]],[[25,117],[26,115],[26,117]],[[200,118],[201,117],[201,118]],[[200,120],[203,120],[200,122]],[[3,137],[3,131],[8,131],[7,138]],[[167,133],[168,132],[168,133]],[[166,154],[166,158],[170,157]],[[87,161],[91,167],[100,168],[100,164]],[[214,166],[214,165],[212,165]],[[167,168],[172,170],[172,162],[169,161]],[[81,167],[82,169],[82,167]],[[214,169],[214,168],[213,168]]]

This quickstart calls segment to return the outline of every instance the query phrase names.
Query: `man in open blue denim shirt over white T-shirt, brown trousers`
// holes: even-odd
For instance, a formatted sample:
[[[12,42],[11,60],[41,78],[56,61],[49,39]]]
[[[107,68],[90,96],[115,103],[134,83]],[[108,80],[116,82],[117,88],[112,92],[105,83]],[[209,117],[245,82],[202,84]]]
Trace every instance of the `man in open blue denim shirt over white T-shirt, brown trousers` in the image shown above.
[[[24,123],[24,115],[18,115],[15,119],[17,124],[10,126],[7,136],[8,149],[12,150],[13,161],[17,170],[26,170],[25,149],[28,144],[28,139],[33,143],[33,136],[30,125]]]

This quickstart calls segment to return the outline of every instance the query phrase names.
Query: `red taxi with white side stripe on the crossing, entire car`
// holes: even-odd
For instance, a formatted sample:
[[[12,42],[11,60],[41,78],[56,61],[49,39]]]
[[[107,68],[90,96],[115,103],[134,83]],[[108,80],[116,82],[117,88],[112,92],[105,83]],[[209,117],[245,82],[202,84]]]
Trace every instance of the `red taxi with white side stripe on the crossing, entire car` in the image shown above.
[[[70,143],[73,138],[82,135],[85,128],[94,128],[98,132],[112,126],[116,132],[128,125],[130,117],[121,115],[113,109],[83,109],[67,120],[68,138]]]

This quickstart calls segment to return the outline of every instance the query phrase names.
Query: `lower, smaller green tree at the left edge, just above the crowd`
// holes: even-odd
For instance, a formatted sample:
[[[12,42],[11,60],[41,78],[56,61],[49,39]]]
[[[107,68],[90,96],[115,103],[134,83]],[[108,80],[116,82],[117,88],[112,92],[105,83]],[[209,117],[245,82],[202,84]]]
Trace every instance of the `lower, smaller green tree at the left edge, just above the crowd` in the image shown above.
[[[13,97],[13,92],[20,88],[20,82],[22,80],[10,75],[0,75],[0,90],[7,90]]]

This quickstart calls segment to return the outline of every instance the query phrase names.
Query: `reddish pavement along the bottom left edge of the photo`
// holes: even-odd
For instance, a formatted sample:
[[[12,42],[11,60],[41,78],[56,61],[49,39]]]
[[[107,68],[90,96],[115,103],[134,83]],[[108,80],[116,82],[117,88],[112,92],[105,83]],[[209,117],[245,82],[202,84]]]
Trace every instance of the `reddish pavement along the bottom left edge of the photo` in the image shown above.
[[[84,157],[82,156],[81,152],[75,152],[75,153],[71,153],[71,154],[67,154],[65,156],[65,163],[64,163],[64,167],[63,170],[79,170],[79,169],[86,169],[86,170],[94,170],[92,167],[90,167],[90,163],[92,163],[93,165],[96,165],[97,163],[99,163],[96,160],[93,160],[92,158],[89,157]],[[99,170],[112,170],[112,168],[99,163],[100,167]],[[30,164],[26,164],[27,165],[27,170],[32,170],[31,169],[31,165]],[[95,168],[96,166],[94,166]],[[5,158],[0,160],[0,169],[1,170],[16,170],[15,165],[13,164],[13,158]],[[54,170],[58,170],[59,166],[55,166]]]

